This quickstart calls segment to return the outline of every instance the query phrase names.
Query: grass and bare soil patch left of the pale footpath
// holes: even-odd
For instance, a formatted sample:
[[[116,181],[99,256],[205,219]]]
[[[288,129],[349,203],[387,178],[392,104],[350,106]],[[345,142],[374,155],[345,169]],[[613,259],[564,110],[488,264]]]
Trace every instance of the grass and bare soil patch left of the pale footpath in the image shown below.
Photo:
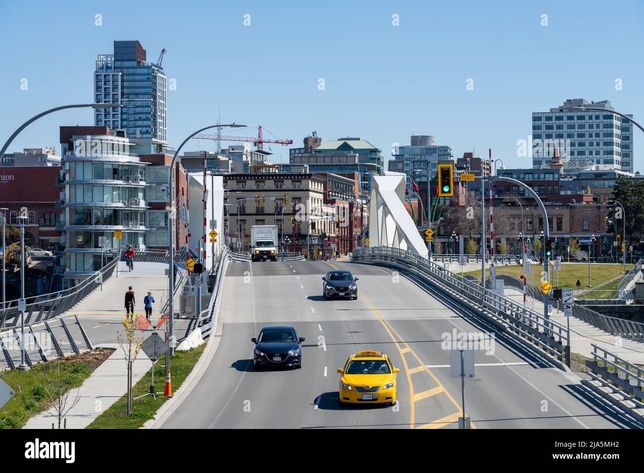
[[[70,387],[79,387],[113,351],[84,351],[79,355],[34,365],[29,371],[13,369],[0,372],[0,378],[15,391],[14,397],[0,409],[0,429],[21,429],[30,418],[50,407],[49,396],[45,390],[46,369],[61,365],[61,368],[65,368]]]

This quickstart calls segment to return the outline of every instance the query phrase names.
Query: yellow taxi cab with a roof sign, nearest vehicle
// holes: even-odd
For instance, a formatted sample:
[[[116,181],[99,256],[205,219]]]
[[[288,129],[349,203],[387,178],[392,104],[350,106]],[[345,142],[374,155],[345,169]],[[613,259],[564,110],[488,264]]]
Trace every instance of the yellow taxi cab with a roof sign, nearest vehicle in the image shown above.
[[[359,351],[351,355],[344,368],[338,368],[340,404],[393,404],[396,400],[396,373],[392,361],[379,351]]]

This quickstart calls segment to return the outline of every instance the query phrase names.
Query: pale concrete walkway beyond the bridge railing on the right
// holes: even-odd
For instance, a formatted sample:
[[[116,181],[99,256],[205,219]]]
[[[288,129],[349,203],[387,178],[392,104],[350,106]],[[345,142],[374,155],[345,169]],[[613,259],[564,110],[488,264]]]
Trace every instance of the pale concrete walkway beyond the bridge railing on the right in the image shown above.
[[[523,302],[523,293],[514,289],[506,288],[506,297],[516,302]],[[542,313],[544,311],[544,303],[536,301],[531,297],[527,297],[526,306]],[[564,327],[568,323],[563,311],[556,308],[553,309],[551,319]],[[570,317],[570,338],[571,349],[573,353],[579,353],[585,357],[592,358],[592,346],[596,344],[603,349],[610,351],[613,355],[617,355],[624,360],[634,364],[644,365],[644,344],[634,342],[632,340],[621,339],[614,337],[610,333],[583,322],[583,320]],[[619,345],[618,345],[619,342]]]

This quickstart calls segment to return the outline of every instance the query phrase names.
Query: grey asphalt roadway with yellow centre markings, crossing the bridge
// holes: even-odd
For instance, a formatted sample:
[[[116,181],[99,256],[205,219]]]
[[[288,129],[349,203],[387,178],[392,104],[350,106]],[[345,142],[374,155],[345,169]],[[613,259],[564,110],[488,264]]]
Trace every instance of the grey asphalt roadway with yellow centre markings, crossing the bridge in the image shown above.
[[[321,277],[334,267],[359,277],[357,301],[321,297]],[[489,328],[442,299],[432,288],[370,264],[231,263],[218,349],[204,377],[161,427],[456,428],[460,379],[450,377],[444,337]],[[306,337],[301,369],[252,368],[251,337],[267,324],[292,324]],[[629,427],[577,375],[502,334],[488,334],[487,342],[493,354],[475,352],[475,377],[465,387],[466,413],[476,428]],[[339,407],[336,369],[363,349],[384,351],[401,369],[398,405]]]

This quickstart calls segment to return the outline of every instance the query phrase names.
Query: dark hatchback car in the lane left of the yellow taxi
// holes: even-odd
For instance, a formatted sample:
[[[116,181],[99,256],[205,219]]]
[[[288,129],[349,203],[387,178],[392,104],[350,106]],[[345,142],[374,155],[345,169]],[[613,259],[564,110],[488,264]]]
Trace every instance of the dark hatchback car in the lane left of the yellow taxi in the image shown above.
[[[260,335],[252,338],[253,367],[264,366],[302,367],[302,346],[304,337],[298,335],[295,327],[290,325],[267,325],[262,327]]]

